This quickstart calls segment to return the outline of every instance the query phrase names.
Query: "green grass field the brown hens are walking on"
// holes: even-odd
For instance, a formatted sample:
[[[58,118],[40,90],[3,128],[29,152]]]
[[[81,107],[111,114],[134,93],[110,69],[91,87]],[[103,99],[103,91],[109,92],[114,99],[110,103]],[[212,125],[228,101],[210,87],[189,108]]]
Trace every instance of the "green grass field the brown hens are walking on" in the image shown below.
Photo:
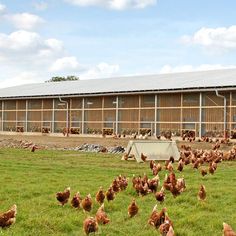
[[[0,229],[0,235],[84,235],[82,225],[88,216],[69,204],[58,206],[55,193],[70,186],[72,195],[80,191],[82,197],[91,193],[93,199],[100,186],[107,189],[119,174],[132,178],[133,174],[151,176],[149,163],[120,161],[119,155],[91,154],[68,151],[42,151],[0,149],[0,212],[17,204],[16,223]],[[160,172],[161,181],[166,171]],[[224,162],[213,176],[201,177],[190,166],[184,175],[187,189],[177,198],[167,192],[165,202],[174,222],[176,235],[222,235],[222,222],[236,229],[236,162]],[[199,202],[197,192],[204,184],[207,200]],[[127,217],[127,207],[135,197],[140,207],[138,215]],[[110,224],[99,226],[98,235],[159,235],[147,220],[156,200],[152,194],[136,196],[131,181],[126,191],[113,202],[105,202]],[[94,201],[94,216],[98,204]]]

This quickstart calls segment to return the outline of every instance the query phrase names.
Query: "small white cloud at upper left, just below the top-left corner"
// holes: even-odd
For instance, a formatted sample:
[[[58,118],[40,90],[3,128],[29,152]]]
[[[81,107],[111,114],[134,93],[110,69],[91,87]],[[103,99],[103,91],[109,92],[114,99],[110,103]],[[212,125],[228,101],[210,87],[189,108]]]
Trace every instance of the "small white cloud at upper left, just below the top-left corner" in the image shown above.
[[[30,13],[8,14],[5,18],[10,21],[15,28],[24,30],[33,30],[44,23],[44,20]]]

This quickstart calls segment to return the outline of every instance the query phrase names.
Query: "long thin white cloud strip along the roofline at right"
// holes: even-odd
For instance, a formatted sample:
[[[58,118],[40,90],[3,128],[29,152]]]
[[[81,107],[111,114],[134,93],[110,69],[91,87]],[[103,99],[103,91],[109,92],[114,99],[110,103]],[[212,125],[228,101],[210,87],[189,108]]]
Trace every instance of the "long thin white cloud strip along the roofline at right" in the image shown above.
[[[221,64],[202,64],[200,66],[181,65],[171,66],[164,65],[160,69],[160,74],[177,73],[177,72],[192,72],[192,71],[207,71],[207,70],[221,70],[221,69],[235,69],[236,65],[221,65]]]

